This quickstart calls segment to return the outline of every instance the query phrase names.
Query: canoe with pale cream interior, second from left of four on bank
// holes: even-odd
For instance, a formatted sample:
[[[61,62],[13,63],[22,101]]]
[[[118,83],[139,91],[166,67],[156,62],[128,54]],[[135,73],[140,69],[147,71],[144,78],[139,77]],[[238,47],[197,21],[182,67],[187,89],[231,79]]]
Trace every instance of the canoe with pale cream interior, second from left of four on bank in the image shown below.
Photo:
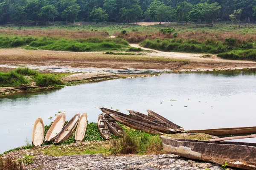
[[[66,113],[61,113],[52,123],[51,127],[49,128],[48,132],[45,136],[44,142],[50,142],[55,139],[55,137],[60,133],[61,129],[64,127],[66,120]]]

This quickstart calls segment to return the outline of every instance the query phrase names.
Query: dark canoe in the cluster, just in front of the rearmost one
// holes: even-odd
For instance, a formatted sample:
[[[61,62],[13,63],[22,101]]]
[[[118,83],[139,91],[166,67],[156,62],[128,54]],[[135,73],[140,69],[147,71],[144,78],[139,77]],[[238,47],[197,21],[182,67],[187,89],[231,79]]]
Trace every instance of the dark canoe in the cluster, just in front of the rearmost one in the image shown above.
[[[175,132],[175,130],[179,131],[180,129],[177,129],[177,127],[174,127],[174,126],[171,126],[171,125],[168,125],[166,122],[162,122],[160,120],[157,120],[157,119],[154,119],[154,118],[151,118],[150,116],[147,116],[143,113],[140,113],[140,112],[137,112],[137,111],[133,111],[133,110],[128,110],[129,113],[132,115],[132,116],[135,116],[137,118],[140,118],[140,119],[145,119],[145,120],[148,120],[148,121],[151,121],[151,122],[154,122],[157,124],[158,127],[161,127],[163,129],[166,129],[167,132],[171,131],[171,132]]]

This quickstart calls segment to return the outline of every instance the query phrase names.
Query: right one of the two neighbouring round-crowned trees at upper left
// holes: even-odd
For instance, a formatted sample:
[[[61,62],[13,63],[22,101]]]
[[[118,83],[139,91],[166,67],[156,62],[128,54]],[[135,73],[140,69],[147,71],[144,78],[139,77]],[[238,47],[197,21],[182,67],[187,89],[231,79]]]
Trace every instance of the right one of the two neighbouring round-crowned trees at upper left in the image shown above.
[[[80,11],[80,6],[78,4],[74,4],[70,7],[67,7],[64,11],[62,11],[61,17],[66,20],[66,24],[68,20],[71,20],[73,23],[73,26],[75,26],[75,21],[77,19],[79,11]]]

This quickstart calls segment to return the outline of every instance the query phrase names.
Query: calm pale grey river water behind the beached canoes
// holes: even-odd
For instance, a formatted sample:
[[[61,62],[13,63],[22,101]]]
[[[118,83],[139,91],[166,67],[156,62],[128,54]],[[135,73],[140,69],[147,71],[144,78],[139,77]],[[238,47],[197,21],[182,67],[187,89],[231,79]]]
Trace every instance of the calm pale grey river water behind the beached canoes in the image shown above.
[[[48,125],[58,111],[88,113],[96,122],[99,107],[151,109],[185,129],[256,126],[256,72],[172,73],[69,86],[55,91],[0,97],[0,153],[31,139],[35,119]],[[52,120],[48,119],[53,117]],[[256,139],[241,139],[256,142]]]

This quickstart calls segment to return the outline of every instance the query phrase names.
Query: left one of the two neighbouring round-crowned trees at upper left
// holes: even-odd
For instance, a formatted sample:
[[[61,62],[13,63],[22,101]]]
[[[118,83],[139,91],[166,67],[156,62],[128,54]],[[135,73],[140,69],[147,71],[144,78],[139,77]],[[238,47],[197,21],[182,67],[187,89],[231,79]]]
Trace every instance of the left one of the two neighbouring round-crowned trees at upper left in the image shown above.
[[[52,19],[54,21],[54,18],[58,16],[58,11],[55,6],[48,5],[40,9],[40,13],[38,14],[38,16],[45,20],[46,25],[48,26],[49,20]]]

